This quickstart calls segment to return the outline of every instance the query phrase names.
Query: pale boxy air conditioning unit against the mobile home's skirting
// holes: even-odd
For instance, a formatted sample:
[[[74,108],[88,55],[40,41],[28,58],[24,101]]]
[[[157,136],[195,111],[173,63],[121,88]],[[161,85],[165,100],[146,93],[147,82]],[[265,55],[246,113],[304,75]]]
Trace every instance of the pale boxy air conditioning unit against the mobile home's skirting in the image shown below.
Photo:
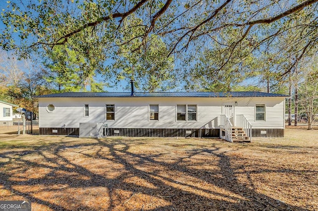
[[[79,138],[99,138],[105,134],[103,123],[79,123]]]

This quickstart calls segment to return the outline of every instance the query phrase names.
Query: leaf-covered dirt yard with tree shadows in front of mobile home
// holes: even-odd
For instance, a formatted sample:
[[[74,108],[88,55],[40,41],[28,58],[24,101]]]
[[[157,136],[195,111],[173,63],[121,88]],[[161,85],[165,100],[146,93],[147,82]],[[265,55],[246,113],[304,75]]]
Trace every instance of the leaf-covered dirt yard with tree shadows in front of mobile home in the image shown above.
[[[318,210],[317,129],[236,144],[15,130],[0,128],[0,200],[33,211]]]

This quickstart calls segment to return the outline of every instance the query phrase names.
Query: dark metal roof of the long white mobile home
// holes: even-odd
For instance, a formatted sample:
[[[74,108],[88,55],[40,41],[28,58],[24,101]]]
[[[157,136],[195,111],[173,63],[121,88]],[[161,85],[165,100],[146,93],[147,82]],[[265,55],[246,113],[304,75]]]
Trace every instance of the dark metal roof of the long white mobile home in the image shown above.
[[[65,92],[50,95],[35,96],[35,98],[126,98],[126,97],[171,97],[171,98],[243,98],[243,97],[289,97],[288,95],[265,92]]]

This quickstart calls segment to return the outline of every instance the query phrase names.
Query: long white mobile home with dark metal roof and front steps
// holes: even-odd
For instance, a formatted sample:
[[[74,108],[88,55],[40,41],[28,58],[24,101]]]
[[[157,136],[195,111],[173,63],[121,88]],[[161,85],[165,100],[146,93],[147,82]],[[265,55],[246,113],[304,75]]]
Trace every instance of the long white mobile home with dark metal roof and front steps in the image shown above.
[[[243,130],[241,135],[249,138],[283,137],[286,97],[262,92],[87,92],[36,98],[42,135],[222,137],[232,141],[232,130]]]

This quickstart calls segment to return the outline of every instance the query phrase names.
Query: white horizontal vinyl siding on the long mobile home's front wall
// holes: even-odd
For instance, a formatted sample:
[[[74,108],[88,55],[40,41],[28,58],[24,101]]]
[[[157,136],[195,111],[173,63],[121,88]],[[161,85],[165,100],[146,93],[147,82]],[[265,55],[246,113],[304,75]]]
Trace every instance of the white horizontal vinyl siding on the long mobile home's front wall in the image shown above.
[[[284,128],[281,98],[40,98],[40,127],[79,127],[80,122],[106,122],[110,128],[219,128],[222,105],[238,102],[235,114],[244,114],[253,128]],[[46,106],[53,104],[54,112]],[[89,104],[84,117],[83,104]],[[255,121],[255,106],[266,104],[266,122]],[[115,105],[115,120],[108,121],[105,105]],[[150,105],[159,105],[159,121],[150,121]],[[176,105],[196,105],[196,121],[176,121]]]

